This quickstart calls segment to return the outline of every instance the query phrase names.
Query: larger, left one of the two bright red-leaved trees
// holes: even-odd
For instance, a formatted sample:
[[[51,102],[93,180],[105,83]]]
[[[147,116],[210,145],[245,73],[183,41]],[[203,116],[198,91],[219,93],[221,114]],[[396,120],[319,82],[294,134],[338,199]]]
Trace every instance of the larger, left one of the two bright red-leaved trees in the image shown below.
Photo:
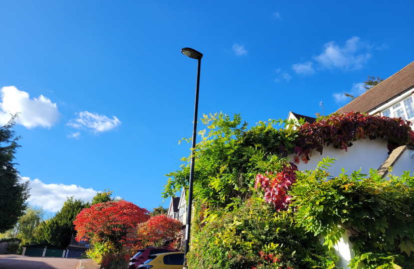
[[[88,237],[96,242],[111,242],[121,250],[122,246],[133,243],[126,236],[148,220],[148,213],[145,208],[124,200],[93,205],[79,212],[73,222],[78,232],[76,240]]]

